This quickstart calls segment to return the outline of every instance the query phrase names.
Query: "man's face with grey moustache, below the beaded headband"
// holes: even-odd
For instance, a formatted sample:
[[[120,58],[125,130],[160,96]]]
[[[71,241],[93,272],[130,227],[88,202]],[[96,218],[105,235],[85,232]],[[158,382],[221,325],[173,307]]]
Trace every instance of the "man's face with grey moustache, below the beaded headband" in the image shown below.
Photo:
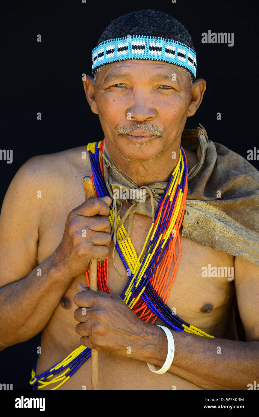
[[[189,75],[177,65],[127,60],[96,76],[95,103],[107,149],[131,160],[156,158],[178,144],[190,101]]]

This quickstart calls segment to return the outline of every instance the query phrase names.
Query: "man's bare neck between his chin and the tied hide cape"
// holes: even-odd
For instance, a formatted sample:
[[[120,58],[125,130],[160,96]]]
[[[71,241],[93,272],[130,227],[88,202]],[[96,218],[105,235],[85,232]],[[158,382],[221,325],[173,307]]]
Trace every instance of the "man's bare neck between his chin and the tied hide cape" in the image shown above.
[[[174,148],[173,151],[162,152],[153,161],[128,161],[117,149],[106,143],[107,151],[115,166],[139,187],[153,182],[169,181],[179,159],[179,147]],[[198,162],[197,154],[186,148],[184,148],[184,152],[186,153],[188,171],[190,171]]]

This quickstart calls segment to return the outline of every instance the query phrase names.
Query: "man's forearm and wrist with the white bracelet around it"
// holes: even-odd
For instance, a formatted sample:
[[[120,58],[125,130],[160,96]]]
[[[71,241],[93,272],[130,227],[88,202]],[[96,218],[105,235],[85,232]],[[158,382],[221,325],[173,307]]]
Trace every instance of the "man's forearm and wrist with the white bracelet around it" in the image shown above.
[[[134,359],[159,369],[167,357],[167,337],[154,325],[147,331]],[[259,382],[259,341],[212,339],[174,330],[172,334],[175,354],[167,372],[204,389],[247,389],[247,384]]]

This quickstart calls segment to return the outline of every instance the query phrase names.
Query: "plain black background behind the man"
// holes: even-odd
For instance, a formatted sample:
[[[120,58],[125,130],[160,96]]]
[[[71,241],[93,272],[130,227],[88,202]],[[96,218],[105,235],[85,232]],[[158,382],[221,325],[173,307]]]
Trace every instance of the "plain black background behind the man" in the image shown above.
[[[98,116],[85,99],[82,74],[91,74],[91,51],[103,29],[133,10],[164,11],[189,30],[197,53],[197,78],[207,81],[207,90],[186,127],[202,123],[210,140],[247,158],[248,149],[259,148],[255,5],[224,0],[3,2],[0,149],[12,149],[13,162],[0,161],[0,206],[13,176],[32,156],[103,139]],[[202,33],[208,30],[234,32],[234,46],[202,44]],[[259,169],[259,161],[251,163]],[[0,382],[30,389],[37,346],[40,335],[0,352]]]

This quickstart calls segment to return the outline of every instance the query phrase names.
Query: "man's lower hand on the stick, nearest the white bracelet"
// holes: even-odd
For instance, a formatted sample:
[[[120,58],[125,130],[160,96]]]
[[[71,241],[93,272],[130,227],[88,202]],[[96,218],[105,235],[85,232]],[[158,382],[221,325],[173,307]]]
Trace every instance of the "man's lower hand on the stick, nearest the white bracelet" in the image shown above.
[[[75,331],[82,345],[117,357],[137,354],[142,349],[150,324],[143,322],[117,294],[91,291],[77,284]]]

